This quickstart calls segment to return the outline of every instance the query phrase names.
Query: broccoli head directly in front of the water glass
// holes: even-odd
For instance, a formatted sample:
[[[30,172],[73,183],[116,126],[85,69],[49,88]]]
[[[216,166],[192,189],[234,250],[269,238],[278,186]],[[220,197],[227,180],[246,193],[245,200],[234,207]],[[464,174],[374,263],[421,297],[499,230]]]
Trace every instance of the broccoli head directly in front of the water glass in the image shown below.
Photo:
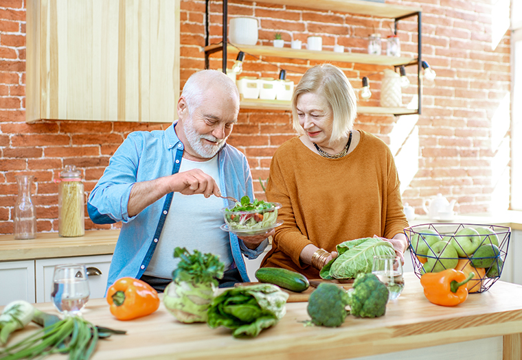
[[[358,274],[348,291],[350,313],[356,317],[378,317],[386,312],[389,292],[374,274]]]

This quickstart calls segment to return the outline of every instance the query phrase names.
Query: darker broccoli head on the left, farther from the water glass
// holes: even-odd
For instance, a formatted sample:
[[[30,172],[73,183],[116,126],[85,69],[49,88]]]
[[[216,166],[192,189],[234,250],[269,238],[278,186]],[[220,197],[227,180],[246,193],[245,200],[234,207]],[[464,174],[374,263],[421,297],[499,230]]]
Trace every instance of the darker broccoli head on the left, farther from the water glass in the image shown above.
[[[334,284],[321,283],[310,294],[308,315],[316,325],[336,327],[343,324],[347,311],[348,294]]]

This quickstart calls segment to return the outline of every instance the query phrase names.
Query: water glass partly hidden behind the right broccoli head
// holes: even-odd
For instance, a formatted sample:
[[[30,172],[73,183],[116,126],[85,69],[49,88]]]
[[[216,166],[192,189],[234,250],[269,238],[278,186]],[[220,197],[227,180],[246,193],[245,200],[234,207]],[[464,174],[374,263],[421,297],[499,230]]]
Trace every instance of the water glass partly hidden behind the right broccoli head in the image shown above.
[[[381,280],[381,283],[388,288],[388,300],[396,300],[400,296],[402,289],[404,289],[404,279],[402,278],[402,262],[397,256],[374,256],[372,274],[375,274]]]

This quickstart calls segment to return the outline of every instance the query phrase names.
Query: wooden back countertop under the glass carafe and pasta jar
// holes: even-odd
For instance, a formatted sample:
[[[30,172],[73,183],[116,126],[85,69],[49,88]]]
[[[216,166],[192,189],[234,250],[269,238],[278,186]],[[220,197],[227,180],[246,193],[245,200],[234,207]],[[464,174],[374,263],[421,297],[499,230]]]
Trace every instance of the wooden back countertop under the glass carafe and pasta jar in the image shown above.
[[[82,237],[59,237],[58,232],[47,232],[30,240],[1,235],[0,261],[113,254],[118,235],[120,230],[91,230]]]

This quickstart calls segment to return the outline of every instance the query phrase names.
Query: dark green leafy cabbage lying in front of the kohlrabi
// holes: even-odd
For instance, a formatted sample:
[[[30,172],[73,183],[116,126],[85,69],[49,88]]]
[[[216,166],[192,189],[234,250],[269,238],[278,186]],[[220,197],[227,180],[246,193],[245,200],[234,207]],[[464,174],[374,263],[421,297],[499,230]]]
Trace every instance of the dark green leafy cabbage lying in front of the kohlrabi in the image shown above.
[[[230,288],[212,301],[208,324],[230,328],[234,337],[256,337],[281,320],[287,299],[288,293],[271,284]]]

